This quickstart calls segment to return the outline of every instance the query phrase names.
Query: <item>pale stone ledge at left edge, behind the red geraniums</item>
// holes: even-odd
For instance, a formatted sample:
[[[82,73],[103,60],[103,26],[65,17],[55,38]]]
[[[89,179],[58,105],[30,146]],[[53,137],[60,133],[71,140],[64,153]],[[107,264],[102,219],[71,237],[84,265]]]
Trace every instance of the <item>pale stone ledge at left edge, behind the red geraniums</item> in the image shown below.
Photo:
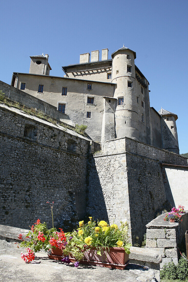
[[[21,229],[17,227],[12,227],[8,225],[0,225],[0,236],[8,238],[8,239],[13,239],[13,240],[18,240],[18,235],[21,233],[23,234],[23,238],[25,239],[26,234],[29,232],[28,229]]]

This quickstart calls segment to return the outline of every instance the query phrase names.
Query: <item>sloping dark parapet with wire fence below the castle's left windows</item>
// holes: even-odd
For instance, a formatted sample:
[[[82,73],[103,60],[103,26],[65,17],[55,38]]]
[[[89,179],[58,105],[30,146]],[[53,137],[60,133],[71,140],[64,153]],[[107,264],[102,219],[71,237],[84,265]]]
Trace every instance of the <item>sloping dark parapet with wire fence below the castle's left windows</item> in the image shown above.
[[[17,91],[19,91],[19,89],[16,89],[17,91],[14,91],[11,88],[13,87],[8,84],[7,84],[7,87],[6,86],[3,87],[0,85],[0,90],[2,90],[3,93],[5,93],[5,97],[14,102],[18,102],[19,104],[26,106],[28,108],[33,108],[38,111],[41,111],[45,115],[50,116],[51,118],[55,118],[56,120],[60,120],[60,119],[69,120],[70,119],[66,114],[60,111],[57,111],[56,109],[53,109],[52,105],[47,104],[47,103],[45,105],[45,102],[43,102],[42,100],[40,100],[41,103],[38,103],[37,101],[35,101],[35,99],[38,99],[38,98],[33,97],[30,94],[27,94],[25,92],[22,93],[22,91],[18,93]]]

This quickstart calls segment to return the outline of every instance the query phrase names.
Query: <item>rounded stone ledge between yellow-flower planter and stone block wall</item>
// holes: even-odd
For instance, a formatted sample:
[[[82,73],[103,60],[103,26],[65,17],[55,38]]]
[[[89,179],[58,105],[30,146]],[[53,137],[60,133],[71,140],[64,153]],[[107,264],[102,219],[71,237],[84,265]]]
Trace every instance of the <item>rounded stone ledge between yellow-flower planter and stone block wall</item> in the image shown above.
[[[150,263],[161,263],[162,256],[159,252],[147,248],[130,247],[129,259],[145,261]]]

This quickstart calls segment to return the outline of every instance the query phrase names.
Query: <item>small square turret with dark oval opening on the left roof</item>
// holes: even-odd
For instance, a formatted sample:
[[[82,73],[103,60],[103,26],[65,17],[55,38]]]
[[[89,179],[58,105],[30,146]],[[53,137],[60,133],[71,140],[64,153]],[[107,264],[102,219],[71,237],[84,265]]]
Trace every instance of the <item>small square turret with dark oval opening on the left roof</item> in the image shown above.
[[[29,73],[49,75],[51,67],[48,63],[48,54],[38,56],[31,56],[31,63]]]

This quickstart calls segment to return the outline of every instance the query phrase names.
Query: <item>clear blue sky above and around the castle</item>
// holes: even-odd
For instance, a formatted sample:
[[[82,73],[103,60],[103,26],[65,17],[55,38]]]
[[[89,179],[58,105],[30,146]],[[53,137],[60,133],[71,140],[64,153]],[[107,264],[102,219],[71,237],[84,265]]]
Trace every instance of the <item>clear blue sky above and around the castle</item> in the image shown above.
[[[79,54],[128,47],[150,83],[150,106],[178,114],[180,153],[188,146],[187,0],[1,1],[0,80],[29,72],[30,58],[49,54],[51,75]]]

